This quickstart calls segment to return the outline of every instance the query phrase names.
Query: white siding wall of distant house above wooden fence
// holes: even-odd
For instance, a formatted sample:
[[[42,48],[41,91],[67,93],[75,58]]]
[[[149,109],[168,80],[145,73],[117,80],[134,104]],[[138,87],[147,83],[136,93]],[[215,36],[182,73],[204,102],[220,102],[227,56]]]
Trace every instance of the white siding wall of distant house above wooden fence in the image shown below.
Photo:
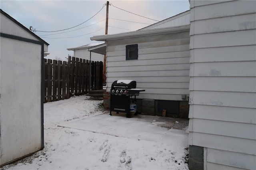
[[[87,49],[75,49],[74,57],[90,60],[90,51],[87,51]],[[92,52],[91,59],[92,61],[103,61],[104,57],[101,54]]]

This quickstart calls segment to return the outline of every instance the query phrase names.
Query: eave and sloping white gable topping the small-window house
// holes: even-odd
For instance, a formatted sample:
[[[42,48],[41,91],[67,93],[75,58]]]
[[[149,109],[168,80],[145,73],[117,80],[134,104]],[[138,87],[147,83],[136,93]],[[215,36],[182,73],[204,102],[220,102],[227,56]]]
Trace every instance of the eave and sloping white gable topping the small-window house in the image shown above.
[[[98,35],[98,36],[90,37],[90,39],[96,40],[96,41],[106,41],[106,40],[116,40],[116,39],[123,39],[123,38],[142,37],[146,35],[178,33],[178,32],[189,31],[189,30],[190,30],[190,10],[186,12],[182,12],[181,14],[178,14],[166,20],[162,20],[158,23],[154,23],[152,25],[149,25],[148,27],[144,27],[137,31],[118,33],[118,34]]]

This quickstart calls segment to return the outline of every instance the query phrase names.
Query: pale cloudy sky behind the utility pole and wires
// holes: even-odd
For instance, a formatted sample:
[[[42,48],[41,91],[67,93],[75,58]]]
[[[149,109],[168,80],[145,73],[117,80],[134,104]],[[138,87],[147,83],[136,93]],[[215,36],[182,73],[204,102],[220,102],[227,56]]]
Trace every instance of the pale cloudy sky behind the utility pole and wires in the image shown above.
[[[73,51],[68,51],[67,48],[96,43],[97,41],[91,41],[90,37],[105,34],[106,6],[104,4],[106,2],[102,0],[1,0],[0,8],[25,27],[32,26],[36,29],[36,35],[50,44],[48,48],[50,55],[46,58],[60,57],[64,60],[68,55],[73,55]],[[109,3],[112,5],[109,6],[108,34],[135,31],[156,23],[157,21],[154,20],[162,21],[189,10],[188,0],[109,0]],[[154,20],[130,14],[114,6]],[[98,11],[100,12],[94,16]],[[90,19],[92,16],[94,17]],[[39,32],[66,29],[86,20],[88,21],[73,29],[52,33]],[[72,31],[74,29],[78,30]]]

